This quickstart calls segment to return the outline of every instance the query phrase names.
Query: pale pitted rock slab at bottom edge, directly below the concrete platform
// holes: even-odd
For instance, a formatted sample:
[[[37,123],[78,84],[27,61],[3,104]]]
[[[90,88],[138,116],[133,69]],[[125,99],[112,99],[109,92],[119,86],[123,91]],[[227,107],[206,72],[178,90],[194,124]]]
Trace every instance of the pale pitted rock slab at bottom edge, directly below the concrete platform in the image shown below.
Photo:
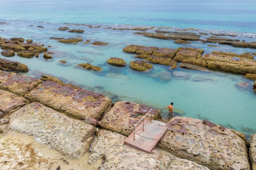
[[[195,169],[209,170],[196,162],[178,158],[159,148],[147,154],[124,145],[126,137],[107,130],[100,130],[92,145],[88,164],[95,169]]]

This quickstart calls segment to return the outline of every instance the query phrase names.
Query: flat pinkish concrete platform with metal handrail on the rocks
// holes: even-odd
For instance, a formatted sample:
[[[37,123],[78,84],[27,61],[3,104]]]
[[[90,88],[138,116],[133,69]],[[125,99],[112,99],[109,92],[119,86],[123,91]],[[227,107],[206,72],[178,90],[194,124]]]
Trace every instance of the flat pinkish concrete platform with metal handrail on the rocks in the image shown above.
[[[152,120],[151,122],[150,120],[147,120],[147,122],[144,123],[144,130],[142,130],[141,126],[135,132],[135,140],[134,133],[132,133],[124,140],[124,144],[130,145],[131,147],[146,153],[151,153],[166,130],[167,126],[165,123],[157,120]]]

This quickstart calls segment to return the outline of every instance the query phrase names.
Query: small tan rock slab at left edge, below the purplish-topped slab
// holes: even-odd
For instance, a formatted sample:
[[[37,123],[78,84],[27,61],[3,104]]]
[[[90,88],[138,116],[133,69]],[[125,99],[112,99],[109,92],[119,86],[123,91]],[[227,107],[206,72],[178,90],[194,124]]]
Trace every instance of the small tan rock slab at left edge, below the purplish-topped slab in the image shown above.
[[[26,104],[29,104],[29,101],[25,98],[9,91],[0,90],[0,111],[4,114],[12,112]]]

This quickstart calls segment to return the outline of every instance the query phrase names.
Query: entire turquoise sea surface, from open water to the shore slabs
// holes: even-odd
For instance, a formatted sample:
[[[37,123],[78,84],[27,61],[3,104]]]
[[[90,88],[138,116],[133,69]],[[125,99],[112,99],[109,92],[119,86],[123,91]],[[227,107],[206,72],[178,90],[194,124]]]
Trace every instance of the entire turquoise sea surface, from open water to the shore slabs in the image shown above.
[[[226,51],[234,53],[256,53],[250,48],[228,45],[209,47],[200,41],[191,45],[177,44],[173,40],[160,40],[133,34],[137,31],[106,29],[127,27],[172,27],[173,31],[185,28],[198,32],[237,34],[238,39],[256,41],[256,1],[0,1],[0,36],[4,38],[32,38],[34,42],[51,45],[52,60],[39,58],[8,58],[25,63],[30,68],[27,75],[50,74],[83,88],[101,90],[114,100],[126,100],[154,106],[166,107],[174,102],[178,115],[208,119],[227,128],[236,129],[246,135],[256,133],[256,94],[252,92],[253,81],[226,72],[202,72],[154,64],[149,72],[138,72],[129,68],[136,60],[132,54],[122,52],[130,44],[171,47],[202,48],[205,53]],[[69,23],[64,24],[64,23]],[[75,24],[73,24],[75,23]],[[93,25],[89,28],[85,25]],[[43,26],[44,28],[38,28]],[[97,28],[100,27],[100,28]],[[76,34],[59,31],[59,27],[82,29]],[[190,30],[193,32],[193,30]],[[109,42],[107,46],[89,44],[64,44],[50,37],[70,38],[81,36],[84,40]],[[230,37],[227,37],[230,38]],[[3,56],[2,56],[3,57]],[[128,65],[123,68],[106,63],[110,57],[123,58]],[[3,57],[5,58],[5,57]],[[66,65],[59,60],[67,60]],[[91,63],[103,68],[94,72],[77,68],[79,63]],[[174,71],[188,74],[188,80],[174,77]],[[162,80],[159,72],[172,76]],[[177,73],[177,72],[176,72]],[[195,81],[203,77],[204,81]],[[247,82],[248,89],[239,89],[236,84]],[[166,110],[165,110],[166,112]]]

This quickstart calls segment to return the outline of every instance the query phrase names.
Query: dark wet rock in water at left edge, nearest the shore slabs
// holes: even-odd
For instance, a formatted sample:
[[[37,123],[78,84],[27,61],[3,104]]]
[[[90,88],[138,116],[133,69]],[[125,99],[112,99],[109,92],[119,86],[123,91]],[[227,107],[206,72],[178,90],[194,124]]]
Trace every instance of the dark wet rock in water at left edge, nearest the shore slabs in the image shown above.
[[[2,58],[0,58],[0,69],[7,70],[7,71],[14,70],[14,71],[22,71],[22,72],[27,72],[29,70],[28,66],[23,63],[2,59]]]

